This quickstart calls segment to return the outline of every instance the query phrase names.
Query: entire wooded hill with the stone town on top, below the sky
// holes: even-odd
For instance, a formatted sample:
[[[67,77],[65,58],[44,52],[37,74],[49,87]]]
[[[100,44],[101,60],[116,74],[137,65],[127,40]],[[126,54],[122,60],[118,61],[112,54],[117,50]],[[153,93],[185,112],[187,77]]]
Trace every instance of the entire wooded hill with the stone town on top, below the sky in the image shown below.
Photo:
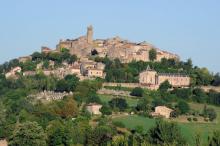
[[[219,74],[146,42],[93,33],[89,26],[0,65],[0,145],[157,146],[151,140],[167,140],[160,133],[176,133],[167,144],[186,146],[191,129],[206,139],[220,129]]]

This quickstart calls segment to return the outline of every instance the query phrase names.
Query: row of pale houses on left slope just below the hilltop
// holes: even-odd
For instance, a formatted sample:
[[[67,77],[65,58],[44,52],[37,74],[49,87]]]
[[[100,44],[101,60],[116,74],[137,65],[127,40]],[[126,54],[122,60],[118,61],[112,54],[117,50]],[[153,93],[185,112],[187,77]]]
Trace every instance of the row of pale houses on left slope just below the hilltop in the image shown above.
[[[64,78],[66,75],[77,75],[80,80],[94,79],[94,78],[105,78],[105,65],[100,62],[84,59],[77,61],[73,64],[66,62],[62,63],[62,67],[54,68],[55,63],[49,61],[49,69],[43,68],[43,62],[37,64],[36,71],[24,71],[22,72],[21,67],[12,68],[11,71],[5,74],[6,78],[16,78],[18,73],[22,73],[23,76],[34,76],[39,71],[46,76],[54,75],[57,78]]]

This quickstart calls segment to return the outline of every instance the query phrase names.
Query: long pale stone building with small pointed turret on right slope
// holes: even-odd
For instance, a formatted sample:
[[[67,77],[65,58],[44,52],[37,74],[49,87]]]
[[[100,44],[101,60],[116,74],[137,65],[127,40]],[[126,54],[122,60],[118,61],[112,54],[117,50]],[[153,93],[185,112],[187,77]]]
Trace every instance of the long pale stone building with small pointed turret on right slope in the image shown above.
[[[157,73],[149,67],[139,74],[139,83],[146,86],[157,86],[168,80],[173,87],[188,87],[190,77],[183,74]]]

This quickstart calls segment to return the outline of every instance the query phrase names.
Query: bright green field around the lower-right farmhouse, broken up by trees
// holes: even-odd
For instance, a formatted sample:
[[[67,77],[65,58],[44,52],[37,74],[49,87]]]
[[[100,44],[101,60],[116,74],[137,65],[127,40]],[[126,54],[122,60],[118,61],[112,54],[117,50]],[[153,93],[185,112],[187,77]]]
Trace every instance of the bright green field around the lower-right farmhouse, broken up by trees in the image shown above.
[[[190,106],[196,110],[202,110],[204,107],[202,104],[194,103],[191,103]],[[220,130],[220,124],[218,122],[220,121],[220,107],[208,107],[213,107],[218,114],[217,121],[215,123],[178,123],[183,136],[191,145],[194,144],[194,137],[196,134],[200,134],[203,144],[206,144],[208,135],[211,135],[214,130]],[[134,129],[137,126],[143,126],[145,132],[147,132],[155,124],[155,119],[137,115],[115,118],[113,120],[123,122],[128,129]]]

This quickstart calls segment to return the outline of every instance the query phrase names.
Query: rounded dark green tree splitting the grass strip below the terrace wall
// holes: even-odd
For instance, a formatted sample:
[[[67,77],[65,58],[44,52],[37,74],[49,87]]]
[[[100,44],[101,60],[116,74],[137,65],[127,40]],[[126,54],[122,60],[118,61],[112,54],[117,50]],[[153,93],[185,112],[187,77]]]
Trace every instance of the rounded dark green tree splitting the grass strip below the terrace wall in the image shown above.
[[[124,111],[128,107],[126,100],[123,98],[113,98],[109,101],[109,105],[111,108],[118,108],[120,111]]]

